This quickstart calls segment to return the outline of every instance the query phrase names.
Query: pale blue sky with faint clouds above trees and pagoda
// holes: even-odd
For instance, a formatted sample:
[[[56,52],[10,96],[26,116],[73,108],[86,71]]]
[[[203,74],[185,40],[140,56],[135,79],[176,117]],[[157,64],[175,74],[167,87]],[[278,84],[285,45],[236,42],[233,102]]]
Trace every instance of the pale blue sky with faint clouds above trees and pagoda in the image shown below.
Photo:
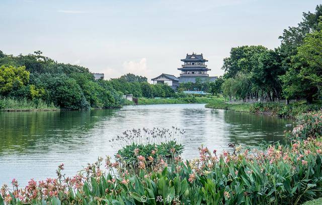
[[[179,76],[180,59],[203,53],[220,76],[231,47],[278,47],[313,0],[0,0],[0,50],[41,50],[58,62],[88,67],[105,79],[126,73]]]

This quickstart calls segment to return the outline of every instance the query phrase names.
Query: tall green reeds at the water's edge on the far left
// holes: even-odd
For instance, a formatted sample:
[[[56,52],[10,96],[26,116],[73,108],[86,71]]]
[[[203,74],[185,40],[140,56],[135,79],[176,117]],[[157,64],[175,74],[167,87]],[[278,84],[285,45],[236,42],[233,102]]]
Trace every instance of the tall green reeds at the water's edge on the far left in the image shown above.
[[[0,99],[0,111],[49,111],[59,110],[53,104],[46,104],[43,100],[30,101],[27,99],[16,100],[13,98]]]

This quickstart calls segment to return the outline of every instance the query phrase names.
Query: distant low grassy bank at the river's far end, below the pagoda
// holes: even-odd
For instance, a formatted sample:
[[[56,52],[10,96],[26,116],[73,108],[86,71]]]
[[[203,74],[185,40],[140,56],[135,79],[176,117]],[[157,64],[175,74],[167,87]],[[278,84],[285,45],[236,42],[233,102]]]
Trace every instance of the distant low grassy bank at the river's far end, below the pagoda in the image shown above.
[[[219,100],[213,96],[188,96],[179,98],[138,98],[139,105],[155,104],[193,104],[193,103],[211,103]]]

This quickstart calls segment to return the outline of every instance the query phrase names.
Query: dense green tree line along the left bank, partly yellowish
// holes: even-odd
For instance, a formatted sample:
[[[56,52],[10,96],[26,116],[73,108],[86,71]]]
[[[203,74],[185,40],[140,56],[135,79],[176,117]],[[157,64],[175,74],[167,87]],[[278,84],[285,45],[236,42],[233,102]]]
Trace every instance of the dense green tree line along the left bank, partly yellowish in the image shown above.
[[[133,74],[95,80],[87,68],[58,63],[41,51],[18,56],[0,51],[0,97],[41,99],[65,109],[88,109],[120,107],[123,94],[147,98],[175,95],[171,87],[150,85],[146,80]]]

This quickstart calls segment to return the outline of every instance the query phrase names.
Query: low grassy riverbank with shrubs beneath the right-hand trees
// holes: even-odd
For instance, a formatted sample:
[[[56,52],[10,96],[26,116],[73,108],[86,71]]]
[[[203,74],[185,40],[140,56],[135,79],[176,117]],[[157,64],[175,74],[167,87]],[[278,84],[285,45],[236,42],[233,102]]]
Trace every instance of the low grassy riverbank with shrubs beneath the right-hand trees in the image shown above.
[[[218,98],[216,101],[212,101],[205,105],[205,107],[295,118],[301,113],[322,109],[322,102],[316,101],[310,105],[307,105],[305,101],[294,102],[289,105],[278,102],[229,103],[224,102],[223,99]]]

